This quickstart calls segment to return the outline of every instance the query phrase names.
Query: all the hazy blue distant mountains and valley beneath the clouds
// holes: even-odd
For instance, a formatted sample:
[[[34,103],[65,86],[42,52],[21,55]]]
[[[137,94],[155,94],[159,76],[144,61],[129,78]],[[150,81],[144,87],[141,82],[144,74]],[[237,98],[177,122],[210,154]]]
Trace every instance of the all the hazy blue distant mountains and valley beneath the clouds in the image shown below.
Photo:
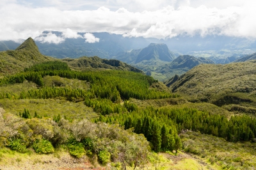
[[[168,80],[175,74],[186,73],[198,64],[228,64],[244,61],[247,58],[252,60],[254,59],[253,55],[247,58],[243,57],[252,53],[253,49],[256,48],[255,41],[249,39],[226,36],[202,37],[197,34],[195,36],[184,34],[175,38],[156,39],[129,38],[108,32],[95,32],[92,33],[93,36],[99,38],[99,42],[95,43],[88,43],[84,38],[66,38],[65,41],[58,44],[40,41],[50,33],[57,37],[61,37],[63,34],[58,31],[44,31],[35,38],[38,50],[44,55],[60,59],[97,56],[101,59],[121,60],[161,81]],[[84,32],[78,34],[83,37]],[[0,50],[12,50],[16,49],[17,46],[19,43],[14,41],[0,41]],[[181,53],[189,53],[189,55],[182,55]],[[178,57],[177,60],[173,61],[176,57]],[[87,60],[88,58],[84,57],[83,59]],[[99,62],[99,60],[94,58],[87,60],[86,63]],[[75,61],[72,60],[72,62]],[[103,60],[100,61],[100,63],[102,62]],[[81,63],[79,66],[83,66]],[[119,67],[122,67],[121,65]],[[92,66],[97,66],[97,64],[90,64],[90,67]],[[102,67],[108,68],[108,66]]]

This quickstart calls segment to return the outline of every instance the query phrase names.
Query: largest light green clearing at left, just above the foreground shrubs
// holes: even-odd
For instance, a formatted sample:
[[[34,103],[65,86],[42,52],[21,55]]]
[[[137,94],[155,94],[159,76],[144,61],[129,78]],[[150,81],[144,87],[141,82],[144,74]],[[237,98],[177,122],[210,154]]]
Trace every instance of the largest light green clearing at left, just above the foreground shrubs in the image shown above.
[[[42,117],[57,117],[58,114],[61,117],[67,118],[96,118],[97,113],[93,111],[92,108],[88,108],[83,102],[73,103],[70,101],[65,101],[61,99],[20,99],[20,100],[10,100],[10,99],[0,99],[0,106],[3,106],[4,110],[15,115],[22,113],[24,109],[28,109],[31,116],[34,113]]]

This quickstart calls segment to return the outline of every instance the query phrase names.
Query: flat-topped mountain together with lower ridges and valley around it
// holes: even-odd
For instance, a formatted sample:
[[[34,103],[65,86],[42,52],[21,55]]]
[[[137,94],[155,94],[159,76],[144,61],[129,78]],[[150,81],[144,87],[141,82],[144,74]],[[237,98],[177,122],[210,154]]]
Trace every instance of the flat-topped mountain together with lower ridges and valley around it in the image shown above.
[[[138,67],[138,69],[160,81],[166,80],[175,74],[184,74],[198,64],[214,64],[211,59],[204,57],[196,58],[191,55],[179,55],[176,58],[167,45],[156,43],[151,43],[143,49],[120,52],[113,58]]]

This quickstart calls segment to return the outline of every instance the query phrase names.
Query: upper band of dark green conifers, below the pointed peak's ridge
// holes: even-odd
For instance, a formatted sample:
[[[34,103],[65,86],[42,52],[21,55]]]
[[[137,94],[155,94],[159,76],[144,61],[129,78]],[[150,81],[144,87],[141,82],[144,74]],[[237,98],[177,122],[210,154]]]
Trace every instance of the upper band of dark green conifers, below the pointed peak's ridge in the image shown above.
[[[70,71],[65,64],[62,66],[58,62],[36,64],[36,66],[25,70],[26,72],[0,79],[0,85],[22,83],[24,80],[28,80],[36,83],[38,87],[44,87],[43,77],[49,75],[90,82],[88,92],[95,97],[110,99],[113,102],[131,97],[141,100],[179,97],[177,94],[149,89],[150,85],[157,80],[131,71]]]

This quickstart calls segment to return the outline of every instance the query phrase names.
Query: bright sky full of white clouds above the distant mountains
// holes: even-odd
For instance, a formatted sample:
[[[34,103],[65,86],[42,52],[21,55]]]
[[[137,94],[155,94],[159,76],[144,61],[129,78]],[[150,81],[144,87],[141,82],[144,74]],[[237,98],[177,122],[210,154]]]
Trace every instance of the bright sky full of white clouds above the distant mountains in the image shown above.
[[[0,40],[99,42],[92,32],[159,39],[180,34],[256,39],[255,9],[255,0],[0,0]]]

